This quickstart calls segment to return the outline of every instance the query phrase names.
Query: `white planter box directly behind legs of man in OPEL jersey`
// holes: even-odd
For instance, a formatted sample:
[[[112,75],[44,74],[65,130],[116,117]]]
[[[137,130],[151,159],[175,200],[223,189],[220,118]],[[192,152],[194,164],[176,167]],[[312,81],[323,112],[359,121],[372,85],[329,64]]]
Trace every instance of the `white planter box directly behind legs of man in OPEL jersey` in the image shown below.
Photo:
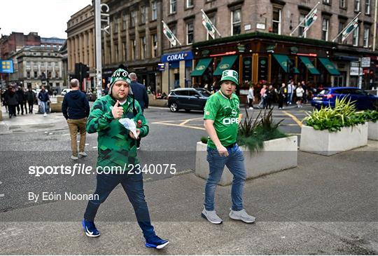
[[[246,166],[246,178],[251,179],[280,170],[297,166],[297,136],[283,137],[264,142],[264,149],[251,155],[246,147],[240,147],[244,152],[244,164]],[[195,175],[205,180],[209,176],[209,162],[207,162],[207,144],[197,142],[197,154],[195,159]],[[221,186],[232,183],[232,173],[225,166]]]

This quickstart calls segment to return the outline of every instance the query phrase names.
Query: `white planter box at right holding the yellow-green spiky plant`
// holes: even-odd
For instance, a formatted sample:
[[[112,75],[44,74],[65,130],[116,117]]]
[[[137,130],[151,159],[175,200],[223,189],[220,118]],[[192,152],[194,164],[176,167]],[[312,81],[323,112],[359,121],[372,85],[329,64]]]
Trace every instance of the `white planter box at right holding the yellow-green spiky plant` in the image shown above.
[[[315,130],[311,126],[302,126],[300,150],[324,156],[331,156],[342,151],[367,145],[367,123],[344,127],[330,133],[328,130]]]

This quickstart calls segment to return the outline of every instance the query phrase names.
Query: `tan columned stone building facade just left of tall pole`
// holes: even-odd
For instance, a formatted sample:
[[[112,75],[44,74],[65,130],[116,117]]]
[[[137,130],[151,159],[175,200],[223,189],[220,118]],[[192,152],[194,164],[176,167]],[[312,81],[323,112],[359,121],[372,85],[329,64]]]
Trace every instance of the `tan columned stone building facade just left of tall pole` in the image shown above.
[[[67,81],[75,75],[75,63],[83,63],[90,67],[90,77],[83,81],[82,90],[95,87],[95,48],[94,48],[94,11],[88,5],[71,15],[67,22]]]

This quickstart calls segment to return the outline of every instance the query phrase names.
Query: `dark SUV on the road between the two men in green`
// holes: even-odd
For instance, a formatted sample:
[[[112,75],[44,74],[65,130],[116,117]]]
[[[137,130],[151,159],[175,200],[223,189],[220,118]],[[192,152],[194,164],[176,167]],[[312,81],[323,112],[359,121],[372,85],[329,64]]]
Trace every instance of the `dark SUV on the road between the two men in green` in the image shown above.
[[[177,88],[168,95],[168,107],[172,112],[178,112],[179,109],[204,110],[204,105],[211,93],[203,88]]]

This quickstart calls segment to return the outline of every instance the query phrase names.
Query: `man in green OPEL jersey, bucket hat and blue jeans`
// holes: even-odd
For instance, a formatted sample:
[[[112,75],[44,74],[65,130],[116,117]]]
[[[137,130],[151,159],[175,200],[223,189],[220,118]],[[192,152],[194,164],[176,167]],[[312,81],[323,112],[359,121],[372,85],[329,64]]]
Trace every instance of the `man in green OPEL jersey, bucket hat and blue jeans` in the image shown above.
[[[239,86],[238,74],[235,70],[222,73],[221,90],[211,95],[204,107],[204,127],[209,134],[207,142],[207,161],[209,177],[205,187],[204,210],[202,217],[213,224],[221,224],[223,220],[214,210],[216,185],[225,166],[230,169],[232,180],[232,208],[230,218],[246,223],[255,222],[256,218],[248,215],[243,208],[243,189],[246,180],[243,152],[236,144],[239,124],[239,97],[235,89]]]

